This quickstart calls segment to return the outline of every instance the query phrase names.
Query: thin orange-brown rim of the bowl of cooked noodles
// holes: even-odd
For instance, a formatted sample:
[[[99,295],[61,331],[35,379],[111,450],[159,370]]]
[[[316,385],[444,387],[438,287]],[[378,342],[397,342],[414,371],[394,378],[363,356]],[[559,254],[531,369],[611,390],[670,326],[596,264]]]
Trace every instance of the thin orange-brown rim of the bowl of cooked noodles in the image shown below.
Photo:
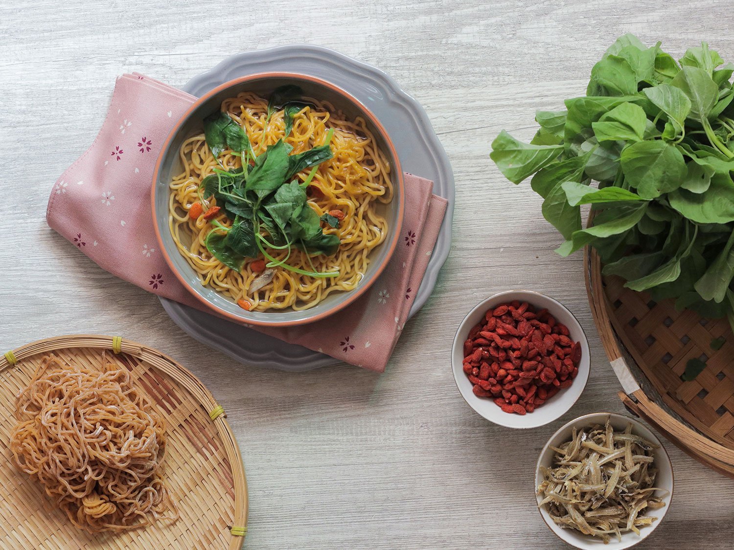
[[[234,315],[233,313],[230,313],[226,311],[225,309],[222,309],[218,307],[216,304],[212,304],[211,301],[208,301],[206,298],[201,296],[199,293],[197,293],[191,285],[189,285],[189,282],[186,281],[186,279],[183,278],[181,273],[179,273],[178,269],[173,264],[172,258],[168,254],[168,251],[166,247],[164,246],[163,238],[161,235],[161,232],[158,229],[158,224],[156,221],[156,183],[158,182],[158,175],[159,170],[161,169],[161,163],[163,162],[163,157],[166,151],[168,150],[171,142],[173,141],[175,135],[178,133],[180,128],[183,126],[183,124],[189,120],[189,117],[191,117],[192,113],[197,109],[202,103],[204,103],[206,100],[211,98],[213,95],[217,95],[219,92],[222,92],[222,90],[228,89],[230,87],[235,87],[239,84],[244,84],[249,81],[253,80],[259,80],[261,78],[297,78],[299,80],[305,80],[305,81],[311,81],[315,82],[316,84],[320,84],[321,86],[327,87],[332,89],[334,92],[336,92],[338,95],[341,95],[342,98],[345,100],[354,103],[355,106],[357,106],[362,114],[371,122],[372,125],[374,125],[374,128],[377,129],[377,132],[382,137],[383,140],[385,140],[385,145],[388,147],[388,150],[390,151],[390,155],[392,155],[393,158],[393,171],[396,172],[397,177],[397,195],[399,197],[399,206],[398,206],[398,221],[399,225],[402,224],[404,211],[405,211],[405,189],[404,189],[404,178],[403,178],[403,172],[400,167],[400,160],[398,158],[398,154],[395,150],[395,146],[393,145],[392,140],[390,139],[390,136],[388,135],[388,132],[385,131],[385,127],[382,125],[379,120],[377,120],[377,117],[372,114],[372,111],[367,109],[366,106],[363,105],[363,103],[360,100],[357,100],[352,94],[349,92],[346,92],[346,90],[341,89],[340,87],[336,86],[335,84],[332,84],[329,81],[322,80],[321,78],[316,78],[315,76],[309,76],[302,73],[286,73],[286,72],[269,72],[269,73],[254,73],[252,75],[242,76],[240,78],[234,78],[233,80],[227,81],[224,84],[220,84],[214,89],[209,90],[206,92],[206,94],[202,95],[200,98],[198,98],[192,106],[189,107],[189,109],[186,110],[186,112],[181,115],[181,118],[178,120],[176,125],[173,127],[173,129],[168,134],[168,137],[166,138],[166,141],[163,144],[163,147],[161,148],[161,153],[158,155],[158,160],[156,161],[156,167],[153,170],[153,184],[150,188],[150,206],[153,212],[153,230],[156,232],[156,238],[158,239],[158,243],[161,246],[161,252],[163,252],[163,257],[166,260],[166,263],[168,264],[168,267],[170,267],[173,274],[176,276],[176,279],[178,279],[179,282],[181,282],[181,285],[186,288],[186,290],[189,290],[189,293],[192,294],[198,301],[200,301],[204,306],[206,306],[208,309],[211,309],[212,311],[216,312],[217,315],[221,315],[225,318],[228,318],[229,320],[233,320],[236,323],[250,323],[252,325],[258,325],[258,326],[297,326],[297,325],[305,325],[308,323],[313,323],[314,321],[321,320],[323,318],[328,317],[329,315],[332,315],[335,312],[338,312],[340,309],[344,309],[345,307],[349,306],[349,304],[352,304],[357,298],[362,296],[363,293],[366,292],[366,290],[371,287],[371,285],[375,282],[377,277],[379,277],[380,274],[382,274],[382,271],[385,270],[385,267],[387,267],[388,263],[390,262],[390,259],[393,257],[393,252],[395,252],[398,240],[400,238],[399,231],[394,230],[393,228],[393,235],[390,238],[390,241],[388,243],[389,249],[388,254],[385,257],[385,260],[377,265],[375,267],[375,271],[370,275],[371,281],[369,285],[363,285],[361,288],[355,288],[355,290],[349,291],[349,296],[346,297],[344,301],[342,301],[340,304],[336,304],[333,307],[330,307],[324,312],[319,313],[318,315],[313,315],[312,317],[302,319],[302,320],[294,320],[294,321],[282,321],[282,320],[272,320],[272,321],[261,321],[256,320],[252,318],[248,318],[245,316],[239,316]],[[277,312],[273,313],[272,315],[277,316]]]

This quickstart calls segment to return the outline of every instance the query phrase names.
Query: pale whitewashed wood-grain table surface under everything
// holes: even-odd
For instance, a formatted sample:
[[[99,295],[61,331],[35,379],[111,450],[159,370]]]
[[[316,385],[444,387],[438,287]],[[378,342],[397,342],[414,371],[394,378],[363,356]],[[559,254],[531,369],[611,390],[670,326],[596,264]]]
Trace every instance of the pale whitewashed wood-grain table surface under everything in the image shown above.
[[[558,548],[535,506],[538,452],[578,415],[622,412],[619,383],[586,302],[581,255],[553,252],[559,235],[539,197],[502,177],[490,142],[503,128],[529,139],[535,109],[582,95],[593,63],[624,32],[662,40],[676,56],[708,39],[733,59],[727,15],[711,0],[4,2],[0,350],[59,334],[123,334],[193,370],[239,441],[249,549]],[[383,375],[233,362],[46,226],[51,186],[94,139],[116,76],[182,85],[225,56],[286,43],[335,48],[390,73],[424,105],[454,167],[451,255]],[[468,308],[514,287],[563,301],[592,350],[581,399],[533,430],[475,414],[449,364]],[[734,481],[666,448],[675,499],[639,548],[730,547]]]

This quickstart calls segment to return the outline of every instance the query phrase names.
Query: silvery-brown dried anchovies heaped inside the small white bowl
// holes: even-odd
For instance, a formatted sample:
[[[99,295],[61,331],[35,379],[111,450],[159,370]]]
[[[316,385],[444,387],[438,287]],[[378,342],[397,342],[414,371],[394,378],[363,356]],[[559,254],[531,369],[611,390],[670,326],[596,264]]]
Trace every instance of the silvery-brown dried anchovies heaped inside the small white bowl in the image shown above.
[[[608,543],[611,535],[653,524],[658,518],[641,516],[646,510],[664,507],[656,488],[653,450],[656,444],[636,436],[629,424],[614,431],[609,419],[581,431],[573,429],[570,441],[551,447],[556,453],[553,468],[541,466],[543,477],[537,494],[540,507],[564,529]]]

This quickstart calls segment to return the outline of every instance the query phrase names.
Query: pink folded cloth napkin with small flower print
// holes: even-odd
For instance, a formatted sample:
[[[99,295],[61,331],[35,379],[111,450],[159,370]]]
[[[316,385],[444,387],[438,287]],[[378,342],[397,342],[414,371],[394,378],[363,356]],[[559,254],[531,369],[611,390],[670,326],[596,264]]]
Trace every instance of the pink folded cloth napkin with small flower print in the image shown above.
[[[153,169],[175,122],[196,100],[137,73],[117,78],[107,117],[92,146],[57,180],[48,225],[115,276],[203,309],[170,271],[150,213]],[[446,213],[433,183],[405,175],[399,246],[374,285],[341,312],[287,329],[253,329],[382,372],[421,285]]]

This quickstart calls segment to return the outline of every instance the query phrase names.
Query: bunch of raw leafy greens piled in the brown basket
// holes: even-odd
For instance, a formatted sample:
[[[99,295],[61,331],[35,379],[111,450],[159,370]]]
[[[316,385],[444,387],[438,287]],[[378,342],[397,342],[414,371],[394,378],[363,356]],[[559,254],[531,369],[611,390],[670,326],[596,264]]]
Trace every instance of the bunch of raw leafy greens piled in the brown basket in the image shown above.
[[[733,70],[706,43],[676,62],[625,34],[592,68],[586,96],[538,111],[530,144],[503,131],[490,156],[513,183],[532,176],[566,239],[556,252],[590,244],[625,286],[732,323]],[[594,213],[586,229],[581,205]]]

